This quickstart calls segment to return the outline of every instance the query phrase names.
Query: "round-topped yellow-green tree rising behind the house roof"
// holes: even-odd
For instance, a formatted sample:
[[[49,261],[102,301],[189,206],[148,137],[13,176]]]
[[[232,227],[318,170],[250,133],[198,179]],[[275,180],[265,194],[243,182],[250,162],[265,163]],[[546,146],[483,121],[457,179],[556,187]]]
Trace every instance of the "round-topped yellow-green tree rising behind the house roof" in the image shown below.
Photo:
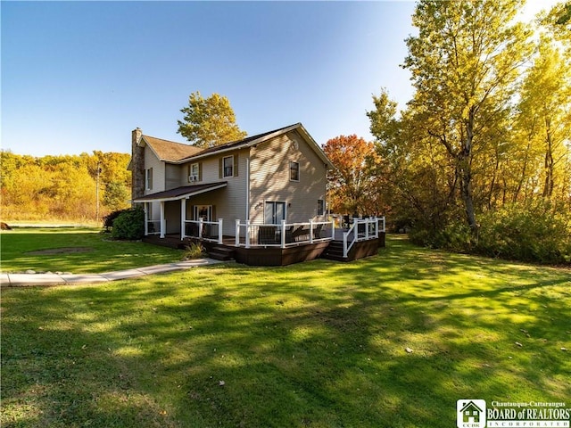
[[[188,97],[185,114],[178,120],[178,133],[197,147],[213,147],[244,138],[247,134],[236,125],[236,117],[226,96],[212,94],[203,98],[199,91]]]

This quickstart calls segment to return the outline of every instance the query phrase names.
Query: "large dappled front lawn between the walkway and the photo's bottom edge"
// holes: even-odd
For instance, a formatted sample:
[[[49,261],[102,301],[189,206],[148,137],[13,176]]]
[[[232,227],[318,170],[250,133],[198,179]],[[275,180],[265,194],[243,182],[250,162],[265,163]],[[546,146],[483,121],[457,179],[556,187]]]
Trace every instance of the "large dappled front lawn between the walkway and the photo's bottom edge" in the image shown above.
[[[457,399],[569,407],[570,307],[568,269],[398,237],[350,264],[7,289],[1,422],[418,427],[455,426]]]

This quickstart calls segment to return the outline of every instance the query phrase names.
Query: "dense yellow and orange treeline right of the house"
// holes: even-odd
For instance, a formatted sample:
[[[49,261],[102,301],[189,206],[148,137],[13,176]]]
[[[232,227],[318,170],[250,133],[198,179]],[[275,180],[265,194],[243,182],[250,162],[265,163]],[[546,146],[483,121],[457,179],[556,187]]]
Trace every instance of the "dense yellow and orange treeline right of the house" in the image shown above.
[[[571,263],[571,2],[534,26],[513,21],[520,6],[418,2],[413,98],[399,111],[383,90],[376,141],[326,144],[341,151],[332,202],[372,202],[417,243]]]

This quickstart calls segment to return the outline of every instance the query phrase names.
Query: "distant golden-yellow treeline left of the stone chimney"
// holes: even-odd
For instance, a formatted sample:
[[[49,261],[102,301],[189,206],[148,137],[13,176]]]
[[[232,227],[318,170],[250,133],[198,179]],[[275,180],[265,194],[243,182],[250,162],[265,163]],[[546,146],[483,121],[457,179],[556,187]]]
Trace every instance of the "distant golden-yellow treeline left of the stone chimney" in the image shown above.
[[[0,152],[3,221],[95,221],[128,208],[130,155],[43,156]]]

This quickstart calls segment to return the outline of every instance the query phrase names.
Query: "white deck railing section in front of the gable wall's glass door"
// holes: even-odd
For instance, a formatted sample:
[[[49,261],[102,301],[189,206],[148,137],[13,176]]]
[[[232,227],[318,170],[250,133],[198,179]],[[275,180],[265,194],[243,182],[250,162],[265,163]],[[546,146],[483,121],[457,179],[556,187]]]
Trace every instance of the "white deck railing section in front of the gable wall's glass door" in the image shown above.
[[[236,247],[287,248],[304,243],[321,243],[335,237],[335,222],[313,221],[307,223],[259,224],[236,220]]]

